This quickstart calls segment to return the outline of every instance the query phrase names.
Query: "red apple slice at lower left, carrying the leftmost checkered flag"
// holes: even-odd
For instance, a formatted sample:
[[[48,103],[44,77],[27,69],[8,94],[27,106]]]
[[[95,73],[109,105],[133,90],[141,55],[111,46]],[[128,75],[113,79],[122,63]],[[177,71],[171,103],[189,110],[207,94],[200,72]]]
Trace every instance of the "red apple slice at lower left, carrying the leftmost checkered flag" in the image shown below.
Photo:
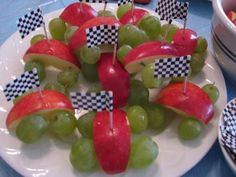
[[[42,90],[41,92],[32,92],[22,97],[11,108],[7,115],[6,126],[8,129],[13,129],[25,116],[34,113],[46,115],[57,109],[74,111],[69,98],[58,91]]]

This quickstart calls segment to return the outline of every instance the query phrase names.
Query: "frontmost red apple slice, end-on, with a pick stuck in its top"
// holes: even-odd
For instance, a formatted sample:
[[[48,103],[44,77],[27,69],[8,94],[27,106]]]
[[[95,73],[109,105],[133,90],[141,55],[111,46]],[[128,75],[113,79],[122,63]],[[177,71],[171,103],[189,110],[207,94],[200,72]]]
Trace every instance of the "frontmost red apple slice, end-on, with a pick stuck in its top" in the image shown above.
[[[113,129],[110,129],[109,112],[97,112],[93,121],[93,142],[96,157],[108,174],[126,170],[130,155],[130,127],[126,113],[113,110]]]

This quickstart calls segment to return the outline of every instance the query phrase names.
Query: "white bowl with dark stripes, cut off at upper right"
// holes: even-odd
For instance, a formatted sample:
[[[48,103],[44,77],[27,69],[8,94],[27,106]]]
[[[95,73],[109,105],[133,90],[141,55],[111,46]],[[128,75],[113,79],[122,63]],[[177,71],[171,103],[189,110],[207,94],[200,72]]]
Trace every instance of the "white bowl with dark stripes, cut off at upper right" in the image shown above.
[[[211,39],[213,54],[227,78],[236,84],[236,26],[226,13],[236,11],[235,0],[213,0]]]

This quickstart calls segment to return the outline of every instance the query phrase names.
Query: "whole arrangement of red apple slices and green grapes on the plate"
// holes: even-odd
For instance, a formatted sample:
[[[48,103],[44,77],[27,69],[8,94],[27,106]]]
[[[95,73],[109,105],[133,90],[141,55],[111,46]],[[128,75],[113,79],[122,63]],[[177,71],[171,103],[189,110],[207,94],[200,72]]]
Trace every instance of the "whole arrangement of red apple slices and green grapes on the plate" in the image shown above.
[[[117,45],[88,46],[87,29],[101,25],[118,26]],[[193,30],[161,24],[131,3],[114,14],[83,2],[67,6],[48,29],[50,37],[35,35],[23,56],[24,71],[37,69],[40,88],[14,99],[6,118],[7,128],[23,143],[37,143],[44,134],[76,135],[68,153],[74,169],[117,174],[144,169],[158,158],[158,142],[147,132],[164,133],[175,115],[181,119],[181,141],[197,139],[213,118],[218,88],[191,82],[207,53],[206,39]],[[181,56],[191,56],[188,79],[155,77],[156,60]],[[56,68],[57,77],[46,82],[49,67]],[[81,115],[74,109],[70,92],[88,83],[88,93],[113,93],[111,112]]]

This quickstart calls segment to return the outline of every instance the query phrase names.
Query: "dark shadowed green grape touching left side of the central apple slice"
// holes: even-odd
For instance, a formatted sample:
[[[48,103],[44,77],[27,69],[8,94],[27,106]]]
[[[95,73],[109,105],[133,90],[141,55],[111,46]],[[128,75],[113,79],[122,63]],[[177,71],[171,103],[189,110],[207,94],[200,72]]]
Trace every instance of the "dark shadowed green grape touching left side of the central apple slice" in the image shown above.
[[[98,81],[97,64],[82,63],[81,72],[86,80],[90,82]]]

